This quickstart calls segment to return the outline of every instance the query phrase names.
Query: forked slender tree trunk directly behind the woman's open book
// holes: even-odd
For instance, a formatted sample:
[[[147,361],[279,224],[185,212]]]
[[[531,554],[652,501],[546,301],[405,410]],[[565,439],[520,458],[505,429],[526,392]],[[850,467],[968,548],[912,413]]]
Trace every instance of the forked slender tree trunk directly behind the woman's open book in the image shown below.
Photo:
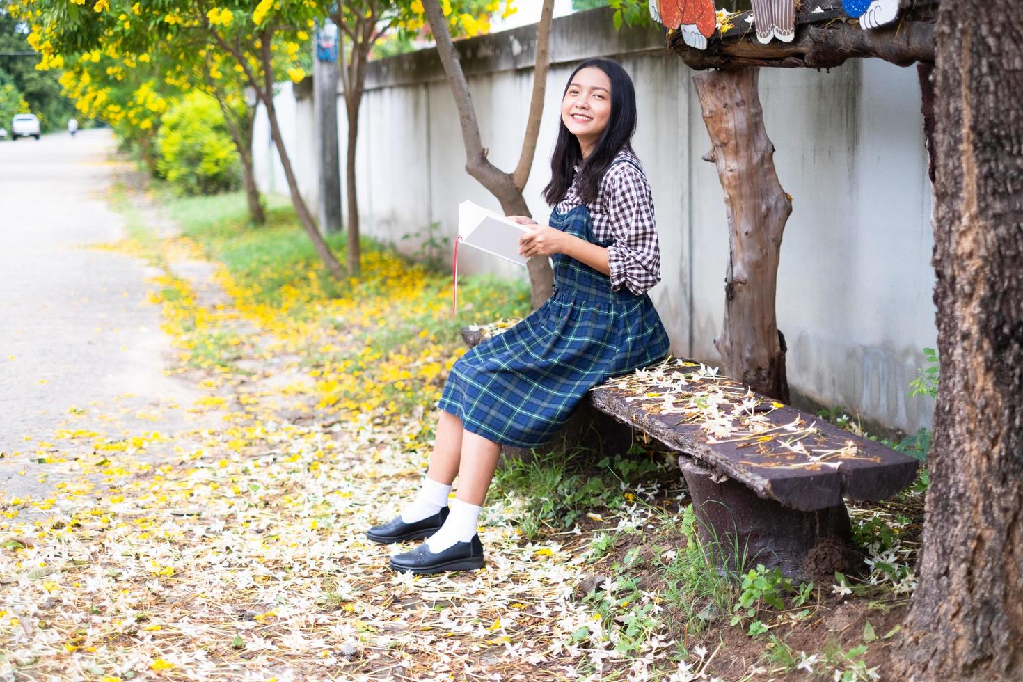
[[[469,93],[465,75],[461,71],[458,54],[451,41],[447,21],[438,0],[424,0],[422,7],[427,21],[437,42],[437,54],[444,65],[451,91],[454,93],[461,123],[461,136],[465,144],[465,171],[486,187],[500,201],[505,215],[529,216],[529,208],[522,190],[529,179],[536,152],[536,138],[540,131],[540,116],[543,113],[543,93],[547,83],[547,66],[550,63],[550,21],[553,16],[553,0],[543,0],[540,22],[536,34],[536,66],[533,71],[533,96],[526,122],[526,136],[522,153],[514,173],[504,173],[487,160],[487,150],[480,139],[480,125],[476,119],[473,99]],[[534,257],[527,263],[529,283],[532,289],[533,308],[539,308],[553,292],[554,275],[545,257]]]

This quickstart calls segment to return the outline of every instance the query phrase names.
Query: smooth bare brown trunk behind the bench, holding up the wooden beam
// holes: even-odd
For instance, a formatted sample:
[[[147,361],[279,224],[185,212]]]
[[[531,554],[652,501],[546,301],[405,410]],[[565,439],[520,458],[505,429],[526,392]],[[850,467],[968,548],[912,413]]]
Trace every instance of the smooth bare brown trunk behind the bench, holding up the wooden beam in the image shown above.
[[[728,216],[724,324],[714,345],[728,376],[789,402],[774,290],[792,200],[774,172],[757,80],[757,69],[693,77],[713,145],[704,158],[717,166]]]

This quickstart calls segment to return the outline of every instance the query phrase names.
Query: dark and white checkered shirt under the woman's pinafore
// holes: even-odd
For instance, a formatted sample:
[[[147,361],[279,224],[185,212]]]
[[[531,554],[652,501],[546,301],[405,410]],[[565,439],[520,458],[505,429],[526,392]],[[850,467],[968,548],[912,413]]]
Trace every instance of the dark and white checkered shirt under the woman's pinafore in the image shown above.
[[[621,163],[623,160],[632,163]],[[580,203],[573,182],[554,210],[566,213]],[[639,295],[661,281],[661,246],[654,220],[654,197],[634,153],[627,149],[618,152],[604,174],[596,200],[587,203],[586,209],[592,221],[594,239],[612,242],[608,246],[608,260],[613,291],[624,284]]]

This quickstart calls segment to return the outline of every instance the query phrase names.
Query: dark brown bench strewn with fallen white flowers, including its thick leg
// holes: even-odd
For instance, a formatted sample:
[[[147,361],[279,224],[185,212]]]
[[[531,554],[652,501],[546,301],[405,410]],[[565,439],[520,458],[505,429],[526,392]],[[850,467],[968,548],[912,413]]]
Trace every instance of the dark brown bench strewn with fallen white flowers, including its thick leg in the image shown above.
[[[473,346],[490,331],[462,336]],[[845,500],[879,502],[917,475],[913,457],[687,360],[614,377],[584,407],[679,453],[701,539],[731,570],[763,563],[796,580],[844,571]]]

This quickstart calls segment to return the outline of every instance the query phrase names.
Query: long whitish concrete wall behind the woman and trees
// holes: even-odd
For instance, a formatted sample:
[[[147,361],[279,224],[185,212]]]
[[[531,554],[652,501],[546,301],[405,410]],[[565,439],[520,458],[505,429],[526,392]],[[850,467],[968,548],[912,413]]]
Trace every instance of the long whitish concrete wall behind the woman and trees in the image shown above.
[[[460,41],[484,145],[499,168],[518,161],[532,87],[535,28]],[[662,47],[656,30],[616,33],[607,10],[554,21],[543,124],[525,195],[533,215],[549,215],[540,192],[549,180],[561,94],[579,60],[612,56],[636,87],[633,146],[654,192],[662,282],[651,295],[677,355],[718,361],[728,256],[722,191],[701,156],[710,140],[693,73]],[[308,90],[308,88],[306,88]],[[822,73],[763,70],[760,92],[782,185],[794,197],[779,272],[777,320],[789,344],[789,380],[805,405],[843,405],[866,420],[903,430],[929,425],[928,401],[907,398],[934,346],[929,265],[931,188],[916,70],[853,60]],[[312,102],[298,89],[278,96],[303,192],[315,201]],[[340,111],[344,111],[339,106]],[[344,113],[340,139],[346,139]],[[418,232],[453,237],[457,204],[499,209],[464,172],[457,111],[434,50],[373,62],[361,110],[359,206],[365,234],[407,252]],[[272,149],[260,142],[264,189],[286,191]],[[344,170],[344,149],[342,149]],[[342,182],[344,187],[344,181]],[[435,234],[436,236],[436,234]],[[465,273],[523,271],[464,249]],[[459,255],[460,257],[462,255]]]

